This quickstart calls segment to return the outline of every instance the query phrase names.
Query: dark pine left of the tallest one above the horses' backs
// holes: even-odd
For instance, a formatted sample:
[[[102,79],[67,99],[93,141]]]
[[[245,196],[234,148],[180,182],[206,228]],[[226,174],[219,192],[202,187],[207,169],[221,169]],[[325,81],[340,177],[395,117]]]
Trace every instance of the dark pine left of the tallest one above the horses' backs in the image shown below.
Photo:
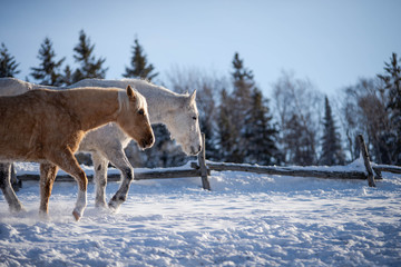
[[[63,77],[60,67],[66,58],[55,61],[55,50],[49,38],[46,38],[40,46],[38,59],[41,60],[39,68],[31,68],[30,73],[40,85],[61,86]]]

